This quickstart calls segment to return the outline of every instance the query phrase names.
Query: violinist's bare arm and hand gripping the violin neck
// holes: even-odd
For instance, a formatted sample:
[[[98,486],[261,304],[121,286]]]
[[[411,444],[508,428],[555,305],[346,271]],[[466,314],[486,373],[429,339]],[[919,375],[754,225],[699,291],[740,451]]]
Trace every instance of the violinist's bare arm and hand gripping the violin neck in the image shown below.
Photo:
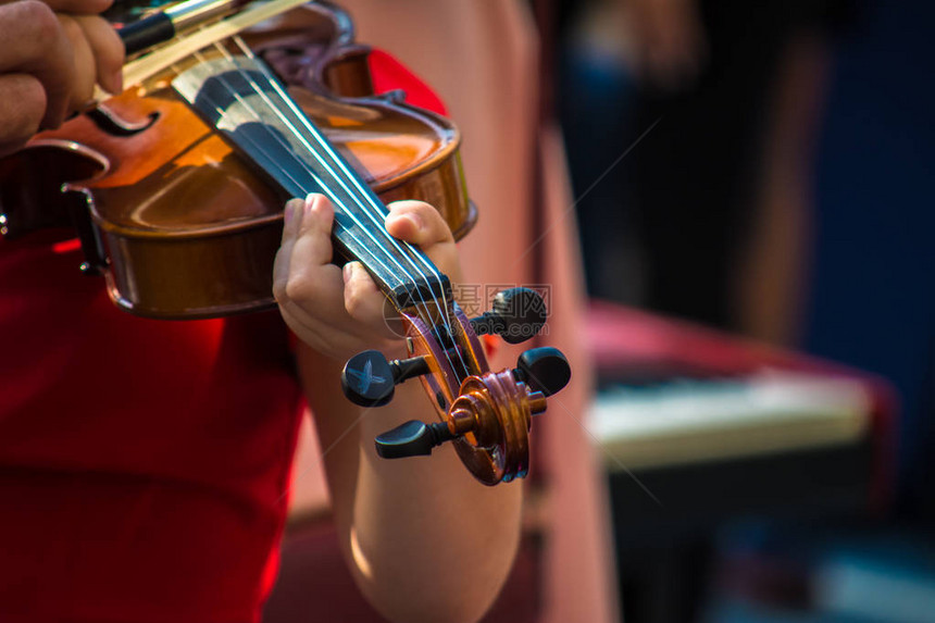
[[[421,385],[397,388],[392,402],[364,410],[340,393],[344,360],[365,348],[401,354],[382,322],[382,297],[359,266],[347,282],[331,260],[331,207],[291,202],[277,256],[276,297],[301,339],[299,370],[325,453],[341,546],[364,595],[394,621],[476,621],[512,566],[519,543],[522,489],[486,487],[450,447],[432,457],[386,461],[375,435],[435,414]],[[414,215],[412,220],[410,215]],[[417,222],[416,222],[417,221]],[[457,279],[451,233],[425,203],[392,208],[387,228],[420,245]],[[350,311],[348,311],[350,310]]]

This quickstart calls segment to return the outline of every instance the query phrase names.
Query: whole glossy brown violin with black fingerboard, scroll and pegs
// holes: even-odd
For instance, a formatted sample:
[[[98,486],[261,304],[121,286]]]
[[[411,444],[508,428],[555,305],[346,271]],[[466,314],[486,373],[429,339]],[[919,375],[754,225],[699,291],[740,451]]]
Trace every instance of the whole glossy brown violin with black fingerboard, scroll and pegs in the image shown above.
[[[186,4],[200,11],[207,2],[178,7]],[[226,13],[237,3],[219,4]],[[129,89],[0,160],[3,234],[70,223],[82,270],[102,275],[121,309],[217,317],[275,306],[282,207],[322,192],[335,207],[336,252],[370,272],[402,321],[409,353],[354,356],[341,375],[345,395],[377,407],[419,377],[439,415],[377,436],[378,454],[428,454],[451,443],[482,483],[525,476],[532,418],[571,371],[561,352],[539,348],[515,370],[491,372],[478,336],[533,337],[546,321],[541,297],[507,290],[469,320],[448,277],[384,227],[385,202],[417,199],[441,212],[456,238],[470,230],[476,210],[457,128],[400,94],[374,95],[369,49],[354,42],[346,13],[275,4],[297,2],[254,9],[272,18],[247,29],[222,20],[132,60]],[[242,24],[248,13],[229,20]],[[164,16],[155,24],[161,35],[127,30],[128,48],[176,34]],[[224,38],[205,35],[211,28]]]

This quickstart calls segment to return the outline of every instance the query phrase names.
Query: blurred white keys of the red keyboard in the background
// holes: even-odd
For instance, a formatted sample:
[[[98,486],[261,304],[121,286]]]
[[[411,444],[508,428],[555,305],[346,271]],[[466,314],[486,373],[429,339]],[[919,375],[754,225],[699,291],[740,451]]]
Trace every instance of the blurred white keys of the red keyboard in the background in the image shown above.
[[[845,444],[864,434],[870,413],[856,381],[763,370],[613,386],[598,393],[588,429],[614,471]]]

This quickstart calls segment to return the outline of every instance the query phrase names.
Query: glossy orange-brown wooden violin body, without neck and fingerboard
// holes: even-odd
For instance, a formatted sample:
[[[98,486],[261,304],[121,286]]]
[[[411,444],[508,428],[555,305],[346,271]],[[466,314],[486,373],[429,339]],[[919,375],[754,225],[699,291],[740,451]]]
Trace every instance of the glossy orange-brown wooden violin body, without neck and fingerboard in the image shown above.
[[[346,14],[310,4],[244,38],[381,200],[426,201],[456,238],[470,230],[476,211],[457,128],[398,94],[373,95],[369,50],[353,42]],[[10,233],[71,223],[84,270],[103,274],[113,301],[142,316],[215,317],[275,306],[273,260],[288,197],[173,91],[173,77],[194,62],[0,161]]]

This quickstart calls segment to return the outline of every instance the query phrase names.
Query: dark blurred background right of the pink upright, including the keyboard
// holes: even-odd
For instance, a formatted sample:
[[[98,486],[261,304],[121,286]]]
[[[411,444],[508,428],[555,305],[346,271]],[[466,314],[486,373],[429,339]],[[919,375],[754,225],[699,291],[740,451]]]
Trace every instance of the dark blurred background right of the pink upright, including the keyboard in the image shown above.
[[[935,621],[935,4],[536,11],[624,619]]]

